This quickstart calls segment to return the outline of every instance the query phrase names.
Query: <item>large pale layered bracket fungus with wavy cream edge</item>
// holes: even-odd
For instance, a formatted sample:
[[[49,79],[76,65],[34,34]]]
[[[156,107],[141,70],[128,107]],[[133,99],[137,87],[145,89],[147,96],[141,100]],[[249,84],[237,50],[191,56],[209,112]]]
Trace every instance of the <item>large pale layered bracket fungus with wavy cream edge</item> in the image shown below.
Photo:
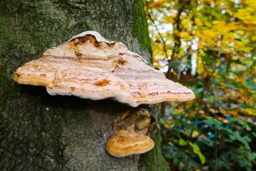
[[[100,100],[114,98],[133,107],[162,101],[187,101],[193,91],[165,78],[121,42],[86,31],[48,49],[14,74],[20,84],[45,86],[50,95]]]

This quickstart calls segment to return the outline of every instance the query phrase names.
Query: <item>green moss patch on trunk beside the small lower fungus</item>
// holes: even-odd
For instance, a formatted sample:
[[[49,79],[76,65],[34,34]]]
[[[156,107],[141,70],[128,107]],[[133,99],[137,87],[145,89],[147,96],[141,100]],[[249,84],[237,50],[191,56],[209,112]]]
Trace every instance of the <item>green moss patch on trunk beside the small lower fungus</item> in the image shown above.
[[[168,163],[165,161],[161,153],[161,141],[161,134],[158,132],[154,139],[155,147],[150,152],[141,155],[140,164],[145,166],[145,170],[169,170]]]

